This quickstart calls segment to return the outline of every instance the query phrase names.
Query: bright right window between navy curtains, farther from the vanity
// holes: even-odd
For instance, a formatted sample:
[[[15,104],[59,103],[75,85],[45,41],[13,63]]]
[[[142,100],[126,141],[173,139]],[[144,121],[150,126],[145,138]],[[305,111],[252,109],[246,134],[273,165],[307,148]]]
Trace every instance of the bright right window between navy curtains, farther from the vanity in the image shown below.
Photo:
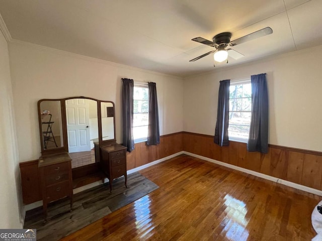
[[[228,137],[231,141],[247,142],[251,125],[251,79],[230,81]]]

